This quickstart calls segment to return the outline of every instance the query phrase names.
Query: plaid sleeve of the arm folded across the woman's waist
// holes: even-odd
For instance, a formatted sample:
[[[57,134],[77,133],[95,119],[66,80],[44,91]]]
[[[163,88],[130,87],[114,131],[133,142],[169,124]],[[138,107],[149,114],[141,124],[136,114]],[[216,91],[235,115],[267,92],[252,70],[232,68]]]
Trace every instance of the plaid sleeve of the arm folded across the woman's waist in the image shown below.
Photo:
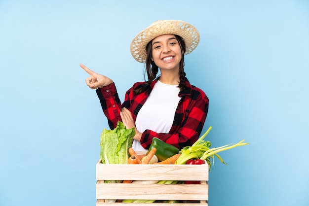
[[[142,146],[149,148],[154,137],[172,144],[178,149],[192,145],[199,138],[203,129],[208,112],[208,102],[206,95],[199,95],[191,109],[183,114],[184,120],[180,126],[172,126],[169,134],[155,133],[151,130],[144,131],[141,137]]]

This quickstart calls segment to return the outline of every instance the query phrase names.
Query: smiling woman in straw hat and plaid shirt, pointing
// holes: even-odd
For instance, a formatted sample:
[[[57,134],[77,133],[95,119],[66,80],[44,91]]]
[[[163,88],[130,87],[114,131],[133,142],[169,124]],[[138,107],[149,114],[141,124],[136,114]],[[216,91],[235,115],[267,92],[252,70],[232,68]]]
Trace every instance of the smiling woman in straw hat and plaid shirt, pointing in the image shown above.
[[[187,22],[160,20],[141,31],[131,42],[131,54],[146,63],[148,80],[137,82],[120,103],[112,79],[80,65],[96,89],[109,126],[122,121],[135,128],[133,149],[147,150],[154,137],[182,149],[199,137],[208,112],[205,93],[190,84],[184,71],[184,55],[199,42],[198,31]],[[157,73],[160,75],[157,77]]]

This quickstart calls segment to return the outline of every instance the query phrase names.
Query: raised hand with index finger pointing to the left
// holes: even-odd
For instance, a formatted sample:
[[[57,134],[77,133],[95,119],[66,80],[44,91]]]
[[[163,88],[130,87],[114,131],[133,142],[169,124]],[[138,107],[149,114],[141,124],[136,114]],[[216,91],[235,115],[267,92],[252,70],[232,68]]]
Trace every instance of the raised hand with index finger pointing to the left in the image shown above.
[[[88,69],[83,64],[80,64],[80,67],[90,75],[90,77],[86,78],[86,84],[90,89],[102,88],[113,83],[113,80],[109,77],[98,74]]]

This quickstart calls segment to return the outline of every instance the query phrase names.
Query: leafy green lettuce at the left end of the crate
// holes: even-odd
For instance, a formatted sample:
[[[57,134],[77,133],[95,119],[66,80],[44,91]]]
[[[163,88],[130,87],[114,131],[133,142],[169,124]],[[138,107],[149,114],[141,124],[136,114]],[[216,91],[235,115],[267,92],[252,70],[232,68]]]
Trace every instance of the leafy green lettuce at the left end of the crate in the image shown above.
[[[100,158],[103,164],[127,164],[135,129],[126,129],[122,122],[114,130],[104,128],[101,134]]]

